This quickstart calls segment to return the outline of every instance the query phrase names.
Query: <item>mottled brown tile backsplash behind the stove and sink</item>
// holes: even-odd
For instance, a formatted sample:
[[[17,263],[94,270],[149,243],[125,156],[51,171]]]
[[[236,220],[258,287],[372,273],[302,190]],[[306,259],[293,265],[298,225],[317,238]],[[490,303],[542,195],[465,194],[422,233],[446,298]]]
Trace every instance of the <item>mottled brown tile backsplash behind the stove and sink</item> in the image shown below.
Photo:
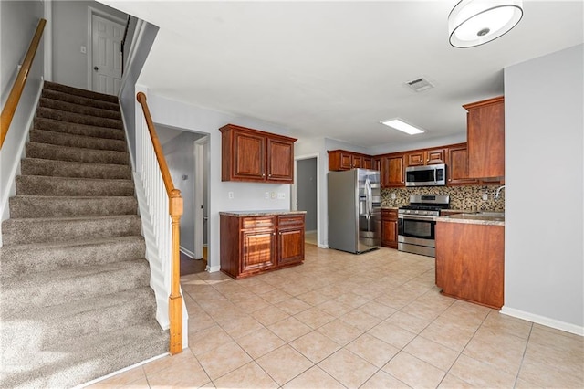
[[[450,208],[465,211],[505,211],[505,189],[495,192],[499,185],[422,186],[381,189],[381,206],[398,207],[410,203],[410,195],[450,195]],[[483,194],[488,196],[483,200]],[[394,195],[395,198],[392,197]]]

